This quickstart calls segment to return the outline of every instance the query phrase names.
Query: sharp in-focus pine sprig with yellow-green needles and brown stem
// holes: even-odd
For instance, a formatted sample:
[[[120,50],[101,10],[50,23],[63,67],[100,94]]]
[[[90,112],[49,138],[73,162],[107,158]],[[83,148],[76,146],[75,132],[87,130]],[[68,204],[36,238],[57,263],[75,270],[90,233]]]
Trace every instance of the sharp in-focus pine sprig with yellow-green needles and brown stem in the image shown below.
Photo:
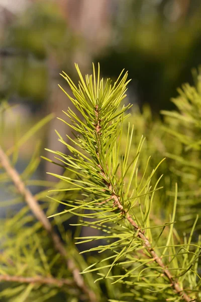
[[[141,288],[154,288],[149,290],[158,294],[164,292],[169,299],[173,296],[175,300],[192,301],[191,294],[193,296],[193,290],[198,283],[194,279],[194,288],[189,286],[186,290],[183,289],[183,285],[187,284],[187,278],[193,278],[193,274],[197,274],[195,268],[200,248],[199,244],[191,244],[191,239],[187,245],[174,243],[177,187],[171,220],[164,225],[152,226],[151,206],[154,202],[154,193],[160,189],[157,186],[161,179],[160,177],[152,184],[152,177],[162,161],[150,175],[147,176],[146,170],[143,175],[138,174],[144,139],[139,142],[137,153],[129,162],[134,132],[130,126],[125,152],[120,154],[122,124],[126,117],[124,113],[130,108],[128,105],[119,109],[121,101],[126,96],[129,82],[127,73],[124,75],[121,73],[112,86],[109,79],[106,82],[103,79],[99,80],[99,66],[97,78],[93,66],[93,75],[86,75],[85,80],[77,65],[76,69],[80,79],[77,87],[67,74],[63,74],[75,98],[67,93],[66,95],[82,115],[82,118],[79,118],[68,108],[65,114],[71,123],[63,120],[76,131],[73,132],[74,139],[68,136],[75,146],[67,143],[58,133],[59,141],[66,145],[72,155],[66,156],[60,152],[49,151],[56,155],[66,170],[75,175],[72,179],[51,173],[66,182],[67,187],[62,191],[75,190],[79,196],[74,202],[62,201],[67,207],[62,213],[73,213],[81,218],[77,225],[91,226],[102,232],[102,236],[99,237],[77,238],[82,240],[77,244],[102,240],[103,245],[97,245],[89,251],[99,253],[108,251],[110,256],[105,260],[113,259],[112,263],[109,262],[103,267],[94,268],[94,265],[90,265],[84,273],[109,268],[106,274],[98,273],[100,278],[97,280],[112,279],[113,284],[123,282],[131,287],[136,285]],[[149,159],[147,166],[148,163]],[[60,213],[52,216],[58,214]],[[89,218],[92,218],[92,221],[89,221]],[[167,225],[170,225],[169,235],[164,244],[161,235]],[[190,247],[197,248],[194,251],[194,258],[189,256]],[[184,253],[180,253],[182,249]],[[180,263],[183,265],[180,266]],[[125,274],[121,271],[115,275],[117,266],[121,267]],[[160,281],[155,282],[156,277]]]

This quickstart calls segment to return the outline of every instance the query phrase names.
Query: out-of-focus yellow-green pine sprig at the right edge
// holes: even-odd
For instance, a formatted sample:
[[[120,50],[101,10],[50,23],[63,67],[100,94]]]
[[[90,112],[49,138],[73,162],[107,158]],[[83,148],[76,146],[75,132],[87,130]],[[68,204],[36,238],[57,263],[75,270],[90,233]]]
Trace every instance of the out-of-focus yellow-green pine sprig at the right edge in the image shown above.
[[[200,113],[201,89],[200,68],[194,69],[195,86],[184,84],[178,89],[179,96],[172,99],[177,111],[162,111],[166,118],[164,131],[170,139],[180,143],[179,152],[168,150],[166,156],[172,159],[173,171],[181,184],[180,220],[192,225],[197,208],[200,207]],[[185,204],[185,207],[183,206]],[[196,229],[200,230],[200,216]]]

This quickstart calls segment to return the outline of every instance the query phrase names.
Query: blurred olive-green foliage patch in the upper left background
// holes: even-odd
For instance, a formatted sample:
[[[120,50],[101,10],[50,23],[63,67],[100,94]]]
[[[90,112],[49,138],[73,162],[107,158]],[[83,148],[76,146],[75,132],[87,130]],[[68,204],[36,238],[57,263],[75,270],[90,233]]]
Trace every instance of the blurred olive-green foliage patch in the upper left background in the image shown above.
[[[2,41],[3,96],[16,94],[37,105],[43,102],[48,93],[48,56],[51,52],[60,56],[61,50],[71,45],[69,38],[56,3],[32,4],[12,20]]]

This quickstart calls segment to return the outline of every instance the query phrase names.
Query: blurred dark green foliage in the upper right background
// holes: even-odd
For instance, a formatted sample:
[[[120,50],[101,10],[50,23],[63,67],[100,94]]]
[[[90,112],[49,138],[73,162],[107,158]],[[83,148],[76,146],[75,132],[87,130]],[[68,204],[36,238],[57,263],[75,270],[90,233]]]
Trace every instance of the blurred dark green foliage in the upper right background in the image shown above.
[[[121,19],[114,20],[116,36],[100,60],[104,71],[129,70],[137,102],[154,111],[172,108],[170,97],[190,82],[200,63],[199,1],[128,1]]]

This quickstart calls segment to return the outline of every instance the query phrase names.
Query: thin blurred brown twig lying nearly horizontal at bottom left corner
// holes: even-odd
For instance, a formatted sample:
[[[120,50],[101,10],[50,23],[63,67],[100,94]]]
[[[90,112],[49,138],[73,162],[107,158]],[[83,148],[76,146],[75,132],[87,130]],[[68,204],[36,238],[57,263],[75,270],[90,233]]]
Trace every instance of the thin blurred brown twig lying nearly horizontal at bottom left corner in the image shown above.
[[[58,287],[64,285],[73,286],[74,281],[68,279],[56,279],[56,278],[46,278],[46,277],[21,277],[21,276],[10,276],[10,275],[0,275],[0,281],[6,282],[18,282],[18,283],[39,283],[39,284],[51,284]]]

